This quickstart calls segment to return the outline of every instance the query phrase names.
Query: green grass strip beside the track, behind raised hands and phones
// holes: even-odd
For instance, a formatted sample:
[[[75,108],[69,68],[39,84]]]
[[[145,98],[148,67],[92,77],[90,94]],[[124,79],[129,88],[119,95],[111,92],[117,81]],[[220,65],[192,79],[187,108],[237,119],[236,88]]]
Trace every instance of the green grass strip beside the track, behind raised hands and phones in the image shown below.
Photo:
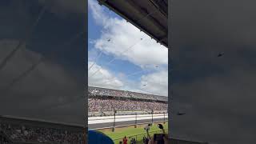
[[[160,123],[160,122],[159,122]],[[162,123],[162,122],[161,122]],[[122,141],[122,138],[126,136],[129,139],[130,138],[136,138],[137,143],[142,143],[142,138],[145,135],[146,136],[146,130],[144,130],[145,125],[138,125],[137,128],[134,128],[134,126],[126,126],[126,127],[118,127],[115,129],[114,132],[112,132],[112,129],[105,129],[105,130],[98,130],[102,133],[108,135],[110,138],[113,139],[114,143],[119,143]],[[163,124],[166,133],[168,132],[168,122],[166,124]],[[153,136],[155,133],[162,133],[162,130],[158,128],[158,123],[154,123],[153,126],[150,126],[150,136]]]

